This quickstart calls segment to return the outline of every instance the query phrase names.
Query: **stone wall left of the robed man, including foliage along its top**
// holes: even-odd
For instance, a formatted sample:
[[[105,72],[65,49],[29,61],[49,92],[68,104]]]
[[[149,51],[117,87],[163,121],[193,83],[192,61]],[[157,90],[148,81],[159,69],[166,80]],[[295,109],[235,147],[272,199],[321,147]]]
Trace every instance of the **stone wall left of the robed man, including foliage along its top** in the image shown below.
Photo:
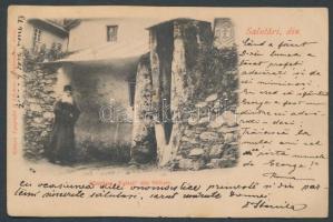
[[[49,144],[53,124],[53,104],[57,92],[57,68],[40,64],[66,56],[60,48],[45,44],[39,51],[22,49],[23,54],[23,155],[29,160],[43,158],[45,148]]]

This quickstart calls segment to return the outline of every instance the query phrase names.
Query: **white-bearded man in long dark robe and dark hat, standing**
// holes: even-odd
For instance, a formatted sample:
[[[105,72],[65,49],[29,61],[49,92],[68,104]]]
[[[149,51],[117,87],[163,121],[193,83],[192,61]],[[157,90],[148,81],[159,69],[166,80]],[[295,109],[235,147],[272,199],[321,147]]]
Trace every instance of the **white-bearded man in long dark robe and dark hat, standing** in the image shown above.
[[[55,124],[47,158],[52,163],[71,164],[75,161],[75,123],[80,111],[72,99],[70,85],[63,87],[63,95],[55,105]]]

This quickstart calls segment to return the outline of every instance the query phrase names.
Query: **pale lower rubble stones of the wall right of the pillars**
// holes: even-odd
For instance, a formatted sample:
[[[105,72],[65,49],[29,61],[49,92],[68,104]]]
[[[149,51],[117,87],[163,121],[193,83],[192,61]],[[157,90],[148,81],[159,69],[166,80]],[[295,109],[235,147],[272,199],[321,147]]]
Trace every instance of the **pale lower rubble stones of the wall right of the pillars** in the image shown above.
[[[221,97],[208,95],[194,105],[196,113],[183,122],[180,144],[173,168],[224,168],[237,161],[237,123],[233,111],[223,111]]]

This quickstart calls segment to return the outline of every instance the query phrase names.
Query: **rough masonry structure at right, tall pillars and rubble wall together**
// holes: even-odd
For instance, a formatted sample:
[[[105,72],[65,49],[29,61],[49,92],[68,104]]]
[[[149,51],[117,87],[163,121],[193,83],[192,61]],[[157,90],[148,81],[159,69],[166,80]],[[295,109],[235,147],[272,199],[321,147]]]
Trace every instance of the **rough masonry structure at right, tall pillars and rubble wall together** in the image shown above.
[[[146,67],[138,69],[135,102],[145,101],[147,110],[139,105],[140,113],[155,108],[157,115],[150,118],[154,123],[141,115],[134,124],[154,132],[158,165],[183,170],[235,165],[238,75],[232,21],[215,19],[213,31],[209,22],[176,19],[150,27],[149,32],[150,62],[143,61]],[[144,143],[149,135],[134,129],[136,142]],[[149,150],[154,152],[135,149],[136,158],[149,161],[154,155]]]

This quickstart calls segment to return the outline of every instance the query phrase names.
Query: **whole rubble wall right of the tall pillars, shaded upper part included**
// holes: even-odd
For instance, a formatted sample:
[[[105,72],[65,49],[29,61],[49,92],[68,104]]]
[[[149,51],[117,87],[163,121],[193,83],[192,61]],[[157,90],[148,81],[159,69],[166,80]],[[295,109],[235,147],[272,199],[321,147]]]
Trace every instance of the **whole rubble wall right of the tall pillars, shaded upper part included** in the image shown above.
[[[225,22],[215,20],[212,47],[205,51],[202,65],[196,63],[202,68],[195,68],[202,73],[202,82],[194,84],[196,93],[187,105],[195,112],[182,121],[182,139],[173,168],[198,170],[237,163],[237,51],[233,44],[221,43],[225,41],[223,34],[216,33],[221,26]]]

